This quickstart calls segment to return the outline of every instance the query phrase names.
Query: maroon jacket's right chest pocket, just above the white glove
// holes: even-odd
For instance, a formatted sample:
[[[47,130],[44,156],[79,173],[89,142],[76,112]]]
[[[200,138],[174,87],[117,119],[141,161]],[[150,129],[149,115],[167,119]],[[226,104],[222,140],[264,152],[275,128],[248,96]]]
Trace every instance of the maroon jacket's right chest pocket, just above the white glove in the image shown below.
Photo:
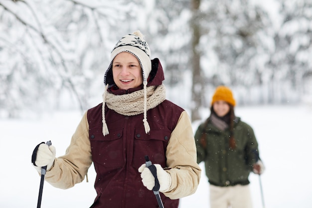
[[[146,134],[144,129],[135,129],[133,164],[139,168],[145,163],[144,156],[149,156],[153,164],[166,166],[165,151],[171,132],[168,130],[153,130]]]

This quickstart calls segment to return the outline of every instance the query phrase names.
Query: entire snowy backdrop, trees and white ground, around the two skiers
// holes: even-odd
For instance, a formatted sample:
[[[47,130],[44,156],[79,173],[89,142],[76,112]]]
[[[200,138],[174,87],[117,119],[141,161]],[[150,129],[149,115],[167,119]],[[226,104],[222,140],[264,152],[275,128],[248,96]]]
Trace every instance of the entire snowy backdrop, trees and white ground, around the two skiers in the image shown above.
[[[312,207],[312,0],[0,0],[0,207],[35,207],[33,148],[51,139],[65,152],[82,113],[102,102],[111,50],[137,29],[194,131],[215,87],[233,90],[266,165],[267,208]],[[94,168],[89,180],[45,183],[42,207],[90,206]],[[250,180],[264,208],[259,178]],[[180,207],[209,207],[204,171]]]

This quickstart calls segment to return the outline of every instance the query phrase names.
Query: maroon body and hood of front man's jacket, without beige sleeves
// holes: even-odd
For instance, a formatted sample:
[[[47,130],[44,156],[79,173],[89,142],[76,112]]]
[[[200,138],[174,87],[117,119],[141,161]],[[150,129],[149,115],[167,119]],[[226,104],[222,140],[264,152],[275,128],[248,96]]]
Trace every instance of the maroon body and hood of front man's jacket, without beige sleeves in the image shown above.
[[[153,70],[154,69],[154,70]],[[151,85],[160,85],[163,72],[154,61]],[[158,72],[158,73],[157,73]],[[152,73],[153,74],[153,73]],[[136,89],[134,89],[136,90]],[[111,90],[125,94],[126,90]],[[97,199],[93,208],[157,208],[155,195],[143,186],[139,167],[148,155],[153,164],[166,167],[166,146],[183,109],[168,100],[148,111],[150,134],[145,133],[143,113],[124,116],[105,107],[110,133],[102,133],[102,104],[88,111],[92,160],[97,173]],[[160,193],[165,208],[177,208],[178,200],[170,200]]]

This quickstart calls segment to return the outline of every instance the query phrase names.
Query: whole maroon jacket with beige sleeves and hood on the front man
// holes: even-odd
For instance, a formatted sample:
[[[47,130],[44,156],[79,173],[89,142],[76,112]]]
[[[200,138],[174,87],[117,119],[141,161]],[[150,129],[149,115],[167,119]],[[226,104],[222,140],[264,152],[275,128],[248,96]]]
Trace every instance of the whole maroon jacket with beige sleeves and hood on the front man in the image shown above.
[[[148,86],[158,86],[163,79],[159,60],[154,59]],[[117,95],[135,90],[109,89]],[[164,207],[178,208],[179,198],[196,191],[201,174],[189,117],[164,100],[147,112],[150,134],[145,132],[143,118],[143,114],[125,116],[105,106],[109,134],[103,136],[102,103],[89,109],[66,154],[47,171],[46,181],[62,189],[73,187],[84,180],[93,162],[97,197],[91,208],[158,208],[153,191],[143,185],[138,172],[147,155],[171,177],[169,190],[160,193]]]

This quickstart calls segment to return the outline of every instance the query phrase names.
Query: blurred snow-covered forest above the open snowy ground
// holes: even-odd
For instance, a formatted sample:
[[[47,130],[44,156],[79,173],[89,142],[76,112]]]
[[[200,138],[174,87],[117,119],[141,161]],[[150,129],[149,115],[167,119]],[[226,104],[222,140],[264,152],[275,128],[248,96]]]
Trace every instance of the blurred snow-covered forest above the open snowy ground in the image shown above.
[[[0,0],[0,118],[100,103],[137,29],[192,121],[220,84],[240,106],[312,102],[311,19],[312,0]]]

